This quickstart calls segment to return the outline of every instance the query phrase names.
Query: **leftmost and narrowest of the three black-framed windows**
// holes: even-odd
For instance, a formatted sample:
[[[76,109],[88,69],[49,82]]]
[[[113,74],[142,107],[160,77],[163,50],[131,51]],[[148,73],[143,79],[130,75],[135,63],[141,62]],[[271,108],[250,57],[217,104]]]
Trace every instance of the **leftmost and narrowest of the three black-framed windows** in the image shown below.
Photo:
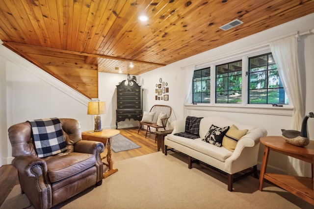
[[[193,103],[210,103],[210,68],[194,71]]]

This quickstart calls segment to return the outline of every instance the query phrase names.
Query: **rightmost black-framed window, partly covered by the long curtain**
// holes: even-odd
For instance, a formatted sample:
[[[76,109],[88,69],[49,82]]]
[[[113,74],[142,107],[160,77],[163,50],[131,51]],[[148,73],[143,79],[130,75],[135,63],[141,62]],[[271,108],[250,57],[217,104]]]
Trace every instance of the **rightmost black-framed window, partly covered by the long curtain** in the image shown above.
[[[249,58],[248,104],[288,104],[271,53]]]

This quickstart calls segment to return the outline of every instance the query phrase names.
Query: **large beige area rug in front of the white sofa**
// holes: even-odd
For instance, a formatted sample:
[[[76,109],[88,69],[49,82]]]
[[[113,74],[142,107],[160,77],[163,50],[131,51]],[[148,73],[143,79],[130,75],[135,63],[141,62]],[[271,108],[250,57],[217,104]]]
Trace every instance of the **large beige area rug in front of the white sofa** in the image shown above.
[[[170,152],[171,153],[171,152]],[[182,160],[183,159],[183,160]],[[196,166],[198,166],[196,164]],[[251,176],[227,190],[227,179],[198,166],[188,169],[185,158],[162,152],[113,164],[119,171],[55,208],[64,209],[313,209],[289,192]],[[15,186],[1,209],[29,206]],[[32,208],[32,207],[30,207]]]

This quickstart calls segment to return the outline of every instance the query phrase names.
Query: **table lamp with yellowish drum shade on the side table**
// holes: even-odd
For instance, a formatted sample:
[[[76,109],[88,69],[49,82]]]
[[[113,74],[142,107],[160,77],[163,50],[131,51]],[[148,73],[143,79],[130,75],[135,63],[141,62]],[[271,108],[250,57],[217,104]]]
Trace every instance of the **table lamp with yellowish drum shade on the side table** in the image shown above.
[[[104,101],[88,102],[87,115],[95,115],[95,132],[102,131],[101,116],[106,113],[106,103]]]

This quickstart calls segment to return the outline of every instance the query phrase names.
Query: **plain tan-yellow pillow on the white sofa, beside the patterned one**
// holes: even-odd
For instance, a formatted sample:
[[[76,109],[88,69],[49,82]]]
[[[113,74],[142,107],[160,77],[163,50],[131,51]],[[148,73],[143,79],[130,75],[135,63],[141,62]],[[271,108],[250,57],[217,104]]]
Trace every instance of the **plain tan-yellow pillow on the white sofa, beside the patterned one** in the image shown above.
[[[235,151],[235,146],[238,140],[241,139],[246,133],[247,129],[239,130],[235,125],[232,125],[222,139],[222,146],[230,151]]]

